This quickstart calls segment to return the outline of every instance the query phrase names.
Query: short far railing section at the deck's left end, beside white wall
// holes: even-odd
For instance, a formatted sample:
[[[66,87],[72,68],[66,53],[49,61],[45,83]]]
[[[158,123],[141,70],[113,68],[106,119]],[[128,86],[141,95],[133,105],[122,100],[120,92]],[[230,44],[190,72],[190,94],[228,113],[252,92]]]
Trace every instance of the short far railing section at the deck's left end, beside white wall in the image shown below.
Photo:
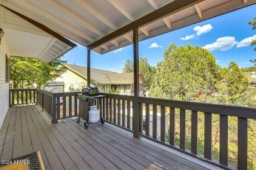
[[[9,106],[36,103],[36,89],[10,89]]]

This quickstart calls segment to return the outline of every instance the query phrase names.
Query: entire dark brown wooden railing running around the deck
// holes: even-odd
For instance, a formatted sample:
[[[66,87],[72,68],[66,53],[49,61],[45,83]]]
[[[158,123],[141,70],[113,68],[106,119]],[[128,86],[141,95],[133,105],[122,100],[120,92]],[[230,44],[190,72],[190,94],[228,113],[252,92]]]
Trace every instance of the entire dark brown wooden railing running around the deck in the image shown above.
[[[78,116],[79,102],[75,97],[77,92],[55,94],[39,89],[10,90],[10,106],[21,104],[21,92],[25,94],[25,97],[22,97],[22,103],[35,103],[36,101],[52,118],[52,123],[58,123],[58,120],[62,118]],[[102,95],[106,97],[101,100],[94,100],[93,104],[98,105],[101,116],[107,122],[133,133],[138,130],[142,137],[226,169],[234,168],[228,165],[228,116],[236,117],[238,120],[237,167],[238,169],[246,169],[247,125],[248,119],[256,121],[256,108],[159,98],[134,98],[126,95]],[[134,113],[133,106],[135,106],[135,102],[139,104],[138,113]],[[189,122],[191,124],[190,150],[186,148],[186,117],[188,113],[191,113],[191,117],[189,117],[189,120],[191,118],[191,122]],[[179,114],[179,122],[175,120],[177,114]],[[198,122],[198,114],[204,115],[204,155],[198,154],[197,133],[198,123],[201,123]],[[220,146],[218,161],[212,158],[213,115],[219,116]],[[139,117],[139,121],[135,120],[136,117]],[[139,124],[136,124],[137,122]],[[179,126],[175,126],[177,123]],[[135,127],[138,127],[138,129],[135,129]],[[175,132],[177,132],[175,127],[179,127],[178,145],[175,145]],[[169,135],[168,141],[166,141],[166,135]]]

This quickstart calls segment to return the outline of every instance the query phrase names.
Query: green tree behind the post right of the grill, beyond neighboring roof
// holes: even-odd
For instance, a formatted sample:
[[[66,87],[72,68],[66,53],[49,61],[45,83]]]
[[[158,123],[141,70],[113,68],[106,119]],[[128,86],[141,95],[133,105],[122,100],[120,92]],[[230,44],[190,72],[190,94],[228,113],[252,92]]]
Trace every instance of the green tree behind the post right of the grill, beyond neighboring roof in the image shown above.
[[[123,72],[133,72],[133,62],[131,60],[126,61]],[[140,57],[139,72],[142,73],[143,77],[146,80],[146,83],[143,84],[143,89],[149,90],[155,78],[156,68],[154,66],[149,65],[147,58]]]

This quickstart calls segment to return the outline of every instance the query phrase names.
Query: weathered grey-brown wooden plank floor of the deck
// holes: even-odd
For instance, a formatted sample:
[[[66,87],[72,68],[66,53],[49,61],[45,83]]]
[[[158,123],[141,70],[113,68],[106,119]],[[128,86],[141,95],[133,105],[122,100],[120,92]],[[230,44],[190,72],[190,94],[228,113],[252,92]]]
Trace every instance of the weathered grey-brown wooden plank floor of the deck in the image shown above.
[[[0,130],[1,160],[40,151],[46,169],[218,169],[111,124],[69,118],[52,124],[38,105],[11,107]]]

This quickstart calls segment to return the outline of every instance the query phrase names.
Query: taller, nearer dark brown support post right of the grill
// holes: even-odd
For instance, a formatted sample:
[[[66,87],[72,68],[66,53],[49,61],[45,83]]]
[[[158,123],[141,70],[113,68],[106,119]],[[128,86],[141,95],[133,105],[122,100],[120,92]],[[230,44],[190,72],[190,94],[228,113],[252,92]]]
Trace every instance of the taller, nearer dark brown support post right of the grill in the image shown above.
[[[137,98],[139,96],[139,33],[138,28],[133,29],[133,82],[134,82],[134,106],[133,106],[133,118],[134,118],[134,132],[133,137],[139,138],[139,103]]]

